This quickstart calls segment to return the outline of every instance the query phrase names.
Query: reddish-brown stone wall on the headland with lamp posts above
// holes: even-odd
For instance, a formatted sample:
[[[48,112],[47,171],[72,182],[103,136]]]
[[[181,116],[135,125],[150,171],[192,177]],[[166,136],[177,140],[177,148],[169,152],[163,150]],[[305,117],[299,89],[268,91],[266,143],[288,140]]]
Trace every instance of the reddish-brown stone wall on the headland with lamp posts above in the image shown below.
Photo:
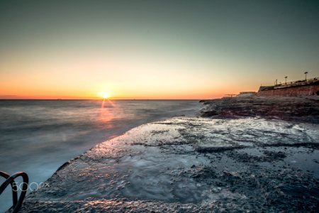
[[[318,77],[309,80],[298,80],[295,82],[285,82],[274,84],[273,86],[260,86],[258,96],[300,96],[300,95],[319,95]]]

